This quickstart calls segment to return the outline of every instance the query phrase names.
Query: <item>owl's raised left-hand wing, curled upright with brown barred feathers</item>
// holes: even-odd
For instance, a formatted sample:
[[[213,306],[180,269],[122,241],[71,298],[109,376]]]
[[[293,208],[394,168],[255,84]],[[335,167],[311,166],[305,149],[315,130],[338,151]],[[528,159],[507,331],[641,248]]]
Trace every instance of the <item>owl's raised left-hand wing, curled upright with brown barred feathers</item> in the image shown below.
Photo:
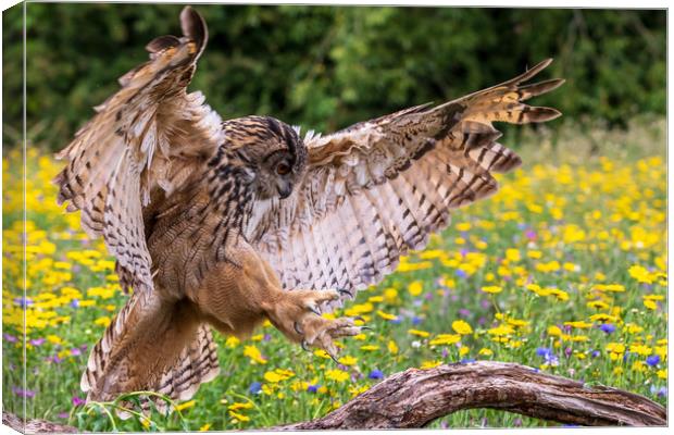
[[[147,45],[150,60],[120,78],[122,88],[57,158],[59,203],[82,210],[82,225],[104,237],[122,284],[152,288],[142,209],[150,192],[170,195],[222,141],[221,119],[187,85],[205,47],[205,23],[192,9],[180,14],[184,36]]]

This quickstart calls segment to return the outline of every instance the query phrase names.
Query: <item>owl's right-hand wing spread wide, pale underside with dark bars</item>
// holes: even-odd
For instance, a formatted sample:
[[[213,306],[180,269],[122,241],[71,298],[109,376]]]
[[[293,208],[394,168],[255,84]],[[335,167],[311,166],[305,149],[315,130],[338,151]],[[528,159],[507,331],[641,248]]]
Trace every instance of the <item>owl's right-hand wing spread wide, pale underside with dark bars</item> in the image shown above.
[[[492,172],[521,160],[497,142],[492,122],[560,115],[523,103],[562,79],[522,85],[547,60],[498,86],[440,105],[419,105],[304,139],[308,172],[285,200],[251,221],[250,240],[292,288],[362,289],[449,224],[450,210],[495,192]]]

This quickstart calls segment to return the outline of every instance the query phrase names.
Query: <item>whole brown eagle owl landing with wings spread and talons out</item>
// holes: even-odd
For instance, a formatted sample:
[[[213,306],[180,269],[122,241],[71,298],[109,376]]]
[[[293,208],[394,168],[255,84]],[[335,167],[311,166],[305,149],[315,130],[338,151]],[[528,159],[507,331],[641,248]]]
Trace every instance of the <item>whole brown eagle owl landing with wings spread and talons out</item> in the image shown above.
[[[203,18],[147,46],[150,60],[58,154],[59,201],[103,236],[133,294],[92,348],[88,400],[153,390],[191,397],[219,372],[211,330],[248,336],[265,319],[335,357],[364,327],[321,315],[391,273],[450,211],[492,194],[492,172],[521,163],[492,122],[560,115],[523,103],[560,86],[501,85],[327,135],[267,116],[222,121],[187,92],[205,47]]]

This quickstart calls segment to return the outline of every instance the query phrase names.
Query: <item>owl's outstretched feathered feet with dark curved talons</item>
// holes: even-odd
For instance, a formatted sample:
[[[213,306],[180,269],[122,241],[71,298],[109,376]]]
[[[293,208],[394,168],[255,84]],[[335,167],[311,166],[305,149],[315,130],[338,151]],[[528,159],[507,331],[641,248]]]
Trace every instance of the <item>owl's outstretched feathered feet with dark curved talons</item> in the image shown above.
[[[342,290],[344,291],[344,290]],[[324,302],[337,300],[339,290],[283,291],[265,310],[270,321],[280,332],[303,347],[313,346],[337,359],[335,338],[360,334],[366,326],[358,326],[353,319],[325,319],[319,311]]]

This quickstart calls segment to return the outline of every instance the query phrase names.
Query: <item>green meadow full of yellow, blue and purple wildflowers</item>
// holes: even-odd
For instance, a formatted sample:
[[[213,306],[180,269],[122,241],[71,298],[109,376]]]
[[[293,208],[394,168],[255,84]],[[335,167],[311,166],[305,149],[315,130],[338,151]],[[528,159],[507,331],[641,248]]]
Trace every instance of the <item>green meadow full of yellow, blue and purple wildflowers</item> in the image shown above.
[[[89,349],[126,298],[114,261],[102,240],[82,232],[77,214],[57,206],[50,179],[60,165],[30,147],[23,270],[22,157],[10,151],[4,409],[23,415],[25,401],[28,418],[88,431],[261,428],[323,415],[408,368],[474,360],[519,362],[665,405],[665,128],[656,117],[625,132],[525,130],[516,148],[524,164],[498,177],[499,192],[457,210],[427,249],[335,313],[374,327],[341,341],[339,364],[265,324],[248,340],[219,337],[221,375],[177,412],[125,421],[115,417],[118,403],[85,406],[79,390]],[[471,410],[430,427],[551,424]]]

